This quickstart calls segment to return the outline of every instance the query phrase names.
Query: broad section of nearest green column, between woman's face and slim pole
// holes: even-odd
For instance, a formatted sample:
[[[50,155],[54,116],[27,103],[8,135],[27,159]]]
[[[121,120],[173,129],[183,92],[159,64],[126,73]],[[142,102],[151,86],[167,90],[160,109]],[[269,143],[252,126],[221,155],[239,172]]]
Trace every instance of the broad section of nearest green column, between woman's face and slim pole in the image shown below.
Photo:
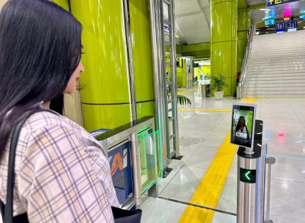
[[[84,127],[113,129],[131,121],[121,0],[70,0],[82,23],[85,72],[80,77]]]

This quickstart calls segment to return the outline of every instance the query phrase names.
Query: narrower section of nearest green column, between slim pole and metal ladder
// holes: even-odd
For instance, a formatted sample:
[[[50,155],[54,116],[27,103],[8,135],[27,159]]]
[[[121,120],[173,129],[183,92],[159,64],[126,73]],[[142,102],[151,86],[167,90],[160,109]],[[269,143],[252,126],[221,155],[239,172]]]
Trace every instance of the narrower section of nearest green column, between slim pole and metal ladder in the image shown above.
[[[148,0],[129,0],[133,74],[137,115],[155,115],[153,85],[153,52],[150,40],[150,11]]]

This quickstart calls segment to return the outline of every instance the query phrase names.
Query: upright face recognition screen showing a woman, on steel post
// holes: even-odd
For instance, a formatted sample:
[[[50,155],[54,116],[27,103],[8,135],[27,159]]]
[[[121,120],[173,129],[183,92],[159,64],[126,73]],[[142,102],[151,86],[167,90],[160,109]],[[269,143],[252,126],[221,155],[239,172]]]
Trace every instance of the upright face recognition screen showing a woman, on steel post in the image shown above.
[[[253,147],[255,108],[255,104],[233,104],[231,143]]]

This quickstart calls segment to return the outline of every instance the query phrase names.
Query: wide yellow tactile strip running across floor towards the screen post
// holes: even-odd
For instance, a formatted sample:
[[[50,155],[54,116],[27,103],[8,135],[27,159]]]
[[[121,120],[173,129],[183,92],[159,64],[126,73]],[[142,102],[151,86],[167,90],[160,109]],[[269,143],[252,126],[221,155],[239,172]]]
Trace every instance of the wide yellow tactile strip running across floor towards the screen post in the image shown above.
[[[237,146],[230,144],[230,137],[231,133],[229,132],[189,201],[191,204],[217,207],[237,149]],[[179,222],[211,222],[213,217],[213,210],[189,205],[184,210]]]

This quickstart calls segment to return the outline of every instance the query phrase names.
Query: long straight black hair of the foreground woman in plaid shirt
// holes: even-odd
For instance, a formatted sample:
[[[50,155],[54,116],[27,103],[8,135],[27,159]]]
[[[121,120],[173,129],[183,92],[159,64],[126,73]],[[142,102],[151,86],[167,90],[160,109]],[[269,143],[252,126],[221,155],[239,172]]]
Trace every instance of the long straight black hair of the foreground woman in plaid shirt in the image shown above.
[[[48,0],[9,0],[0,14],[0,156],[13,126],[65,90],[79,64],[82,25]]]

